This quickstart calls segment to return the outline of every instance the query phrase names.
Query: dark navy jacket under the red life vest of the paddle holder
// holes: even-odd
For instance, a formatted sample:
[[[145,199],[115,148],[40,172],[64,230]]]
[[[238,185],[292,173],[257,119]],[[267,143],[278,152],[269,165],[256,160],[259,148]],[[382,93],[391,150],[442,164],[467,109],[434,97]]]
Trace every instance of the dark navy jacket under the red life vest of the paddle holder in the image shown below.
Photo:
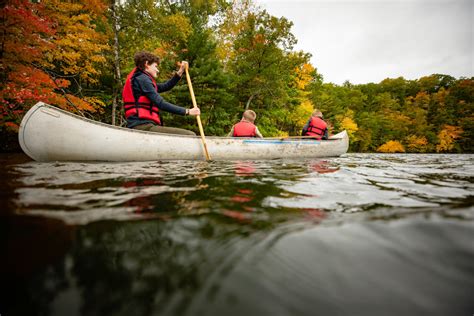
[[[181,79],[181,77],[178,74],[175,74],[173,78],[171,78],[170,80],[164,83],[157,83],[156,85],[158,87],[158,91],[165,92],[165,91],[171,90],[178,83],[179,79]],[[144,95],[151,101],[153,106],[158,107],[160,111],[166,111],[166,112],[170,112],[170,113],[178,114],[178,115],[186,114],[185,108],[166,102],[160,96],[158,91],[156,91],[151,81],[151,78],[147,76],[145,73],[143,73],[143,71],[140,69],[137,69],[137,71],[132,77],[132,91],[133,91],[133,95],[135,99],[138,100],[138,98],[141,95]],[[136,116],[130,116],[127,118],[127,127],[129,128],[133,128],[137,125],[147,124],[147,123],[156,125],[156,123],[153,121],[140,119]]]

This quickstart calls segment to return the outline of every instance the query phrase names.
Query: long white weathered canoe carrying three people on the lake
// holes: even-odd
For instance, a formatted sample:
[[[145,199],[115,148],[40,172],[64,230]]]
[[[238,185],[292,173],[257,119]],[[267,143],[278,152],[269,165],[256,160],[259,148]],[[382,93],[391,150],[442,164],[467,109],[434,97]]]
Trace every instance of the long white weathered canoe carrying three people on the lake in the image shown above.
[[[138,131],[69,113],[43,102],[23,117],[23,151],[36,161],[205,160],[199,136]],[[346,131],[329,140],[206,137],[212,160],[337,157],[347,152]]]

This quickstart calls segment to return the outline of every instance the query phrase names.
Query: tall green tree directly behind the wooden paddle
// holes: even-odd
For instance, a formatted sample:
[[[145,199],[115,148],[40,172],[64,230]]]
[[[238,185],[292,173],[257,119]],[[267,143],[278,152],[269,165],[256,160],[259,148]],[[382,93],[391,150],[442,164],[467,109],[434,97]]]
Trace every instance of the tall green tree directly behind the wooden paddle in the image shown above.
[[[237,100],[230,93],[231,75],[226,73],[218,55],[218,41],[209,27],[211,16],[225,9],[219,1],[177,2],[165,10],[169,14],[182,14],[189,22],[191,32],[186,40],[177,43],[178,60],[189,62],[195,97],[201,108],[201,119],[207,134],[225,135],[234,124]],[[167,14],[168,14],[167,13]],[[176,104],[190,107],[191,98],[185,78],[182,85],[170,91],[167,98]],[[164,113],[165,116],[168,116]],[[196,129],[196,121],[173,117],[173,121],[188,129]]]

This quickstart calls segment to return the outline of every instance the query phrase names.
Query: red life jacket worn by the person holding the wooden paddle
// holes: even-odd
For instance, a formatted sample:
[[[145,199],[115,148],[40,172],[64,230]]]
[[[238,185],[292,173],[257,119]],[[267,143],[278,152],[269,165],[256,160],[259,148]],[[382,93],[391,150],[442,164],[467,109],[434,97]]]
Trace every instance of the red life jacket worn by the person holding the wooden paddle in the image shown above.
[[[128,74],[127,80],[125,80],[125,86],[123,87],[122,98],[125,108],[125,118],[137,116],[140,119],[153,121],[158,125],[162,125],[160,115],[158,113],[158,107],[154,107],[150,99],[144,95],[141,95],[138,100],[135,100],[135,97],[133,96],[132,78],[136,71],[137,68],[134,68],[132,72]],[[158,91],[158,86],[156,85],[155,79],[146,71],[143,73],[151,78],[153,86],[155,86],[155,89]]]

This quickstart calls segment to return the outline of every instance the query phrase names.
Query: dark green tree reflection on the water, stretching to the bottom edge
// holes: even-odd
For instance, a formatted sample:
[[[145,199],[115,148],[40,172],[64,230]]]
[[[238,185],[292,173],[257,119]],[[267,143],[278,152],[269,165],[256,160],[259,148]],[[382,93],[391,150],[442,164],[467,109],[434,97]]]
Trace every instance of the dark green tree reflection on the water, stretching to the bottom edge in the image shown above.
[[[38,271],[24,278],[19,296],[28,304],[18,300],[7,311],[61,314],[66,306],[76,306],[84,315],[180,315],[195,314],[197,298],[212,304],[221,280],[248,251],[268,243],[275,227],[304,218],[300,210],[265,205],[268,196],[288,197],[275,185],[278,177],[268,178],[269,170],[251,164],[245,164],[245,172],[242,168],[237,164],[228,176],[198,170],[192,176],[107,182],[109,188],[143,193],[123,203],[143,220],[85,226],[58,222],[70,235],[57,238],[72,244],[56,247],[50,239],[35,240],[37,249],[59,254],[47,262],[30,258]],[[291,180],[288,174],[284,178]],[[153,186],[172,189],[147,194]],[[297,229],[282,228],[274,239]]]

